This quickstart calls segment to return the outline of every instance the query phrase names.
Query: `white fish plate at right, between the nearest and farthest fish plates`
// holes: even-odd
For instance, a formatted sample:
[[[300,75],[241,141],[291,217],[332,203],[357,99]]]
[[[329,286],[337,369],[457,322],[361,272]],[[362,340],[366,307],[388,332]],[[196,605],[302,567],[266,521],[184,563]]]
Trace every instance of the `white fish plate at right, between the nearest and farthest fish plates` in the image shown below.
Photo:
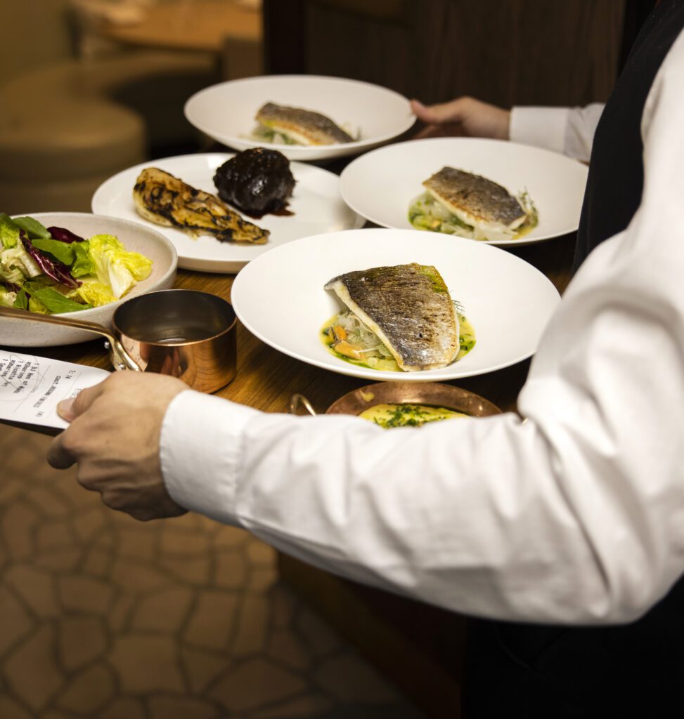
[[[436,137],[382,147],[347,165],[340,191],[348,206],[375,224],[410,228],[411,201],[425,191],[423,181],[445,165],[494,180],[512,195],[527,190],[534,201],[539,224],[529,234],[487,244],[530,244],[577,229],[586,166],[557,152],[516,142]]]

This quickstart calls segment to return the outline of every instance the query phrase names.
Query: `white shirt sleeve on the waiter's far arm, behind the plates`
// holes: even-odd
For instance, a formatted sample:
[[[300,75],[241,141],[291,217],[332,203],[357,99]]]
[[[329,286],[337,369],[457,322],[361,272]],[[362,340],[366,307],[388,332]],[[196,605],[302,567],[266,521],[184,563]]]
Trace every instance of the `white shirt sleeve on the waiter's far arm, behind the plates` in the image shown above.
[[[510,139],[588,162],[603,104],[586,107],[513,107]]]

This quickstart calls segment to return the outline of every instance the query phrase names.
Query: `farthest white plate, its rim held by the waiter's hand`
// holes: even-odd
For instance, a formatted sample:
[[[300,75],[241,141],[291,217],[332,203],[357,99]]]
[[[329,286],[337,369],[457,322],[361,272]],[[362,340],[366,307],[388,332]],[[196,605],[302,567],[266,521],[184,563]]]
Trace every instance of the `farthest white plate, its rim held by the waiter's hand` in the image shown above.
[[[249,136],[256,127],[256,112],[267,102],[314,110],[361,132],[359,141],[336,145],[269,145],[290,160],[326,160],[365,152],[397,137],[415,122],[408,100],[399,93],[321,75],[264,75],[212,85],[186,102],[185,116],[209,137],[235,150],[246,150],[264,145]]]

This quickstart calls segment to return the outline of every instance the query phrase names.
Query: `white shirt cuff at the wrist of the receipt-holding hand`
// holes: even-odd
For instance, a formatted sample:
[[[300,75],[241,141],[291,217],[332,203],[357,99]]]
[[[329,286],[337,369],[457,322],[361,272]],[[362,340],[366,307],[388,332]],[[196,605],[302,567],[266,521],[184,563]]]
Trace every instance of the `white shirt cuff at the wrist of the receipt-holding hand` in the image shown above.
[[[166,490],[188,510],[225,524],[235,519],[235,483],[243,428],[259,412],[186,390],[171,400],[161,426],[159,457]]]

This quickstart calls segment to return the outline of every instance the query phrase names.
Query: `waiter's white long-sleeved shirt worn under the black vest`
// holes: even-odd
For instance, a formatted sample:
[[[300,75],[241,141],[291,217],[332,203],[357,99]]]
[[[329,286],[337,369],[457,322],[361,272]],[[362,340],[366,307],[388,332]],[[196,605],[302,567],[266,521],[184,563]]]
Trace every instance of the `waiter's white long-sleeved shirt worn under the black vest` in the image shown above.
[[[647,610],[684,571],[682,88],[684,35],[644,110],[641,206],[567,288],[519,398],[526,423],[508,413],[384,430],[186,391],[162,429],[171,496],[453,610],[554,623]],[[587,156],[577,137],[590,111],[562,112],[564,129],[554,111],[558,125],[535,132],[550,127],[552,147]],[[521,115],[534,111],[513,113],[517,139]]]

